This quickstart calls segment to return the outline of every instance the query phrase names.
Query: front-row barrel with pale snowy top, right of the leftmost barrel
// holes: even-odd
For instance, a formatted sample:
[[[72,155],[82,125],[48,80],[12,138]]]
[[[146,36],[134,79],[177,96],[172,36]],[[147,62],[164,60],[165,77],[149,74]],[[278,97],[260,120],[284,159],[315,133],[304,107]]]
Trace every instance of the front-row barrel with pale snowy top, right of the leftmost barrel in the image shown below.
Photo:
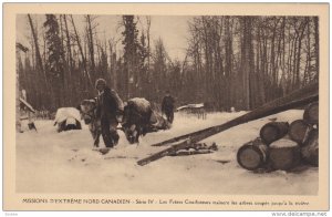
[[[269,147],[269,162],[274,169],[289,170],[301,162],[300,146],[294,141],[281,138]]]

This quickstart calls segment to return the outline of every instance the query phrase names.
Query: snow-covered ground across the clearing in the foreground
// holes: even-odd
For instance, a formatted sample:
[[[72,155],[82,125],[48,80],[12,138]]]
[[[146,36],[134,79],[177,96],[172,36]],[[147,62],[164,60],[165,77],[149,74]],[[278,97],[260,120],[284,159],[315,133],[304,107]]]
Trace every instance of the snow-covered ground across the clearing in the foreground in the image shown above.
[[[217,143],[219,149],[212,154],[167,156],[145,166],[136,164],[165,148],[153,147],[153,143],[218,125],[242,114],[214,113],[206,120],[176,114],[172,130],[147,134],[139,145],[129,145],[120,132],[120,144],[106,155],[92,151],[93,141],[84,124],[82,131],[56,133],[52,121],[37,121],[38,133],[17,134],[17,192],[315,195],[318,168],[255,174],[241,168],[236,161],[238,148],[256,138],[268,118],[291,122],[301,118],[303,111],[271,115],[211,136],[204,142]]]

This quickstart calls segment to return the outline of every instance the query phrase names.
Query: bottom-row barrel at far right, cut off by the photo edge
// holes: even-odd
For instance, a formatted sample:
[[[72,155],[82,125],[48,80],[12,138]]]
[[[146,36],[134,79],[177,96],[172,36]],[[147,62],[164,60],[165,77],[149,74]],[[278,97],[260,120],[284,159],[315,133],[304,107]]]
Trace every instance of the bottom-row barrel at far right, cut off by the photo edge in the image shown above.
[[[312,166],[319,166],[319,131],[310,132],[309,138],[301,148],[302,158]]]

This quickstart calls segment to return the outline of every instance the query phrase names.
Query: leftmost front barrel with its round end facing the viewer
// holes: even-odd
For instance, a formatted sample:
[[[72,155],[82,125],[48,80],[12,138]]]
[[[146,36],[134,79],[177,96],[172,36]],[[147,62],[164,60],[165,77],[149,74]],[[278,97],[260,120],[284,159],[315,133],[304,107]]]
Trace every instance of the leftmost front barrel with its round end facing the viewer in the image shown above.
[[[248,170],[264,166],[268,158],[268,146],[260,138],[243,144],[237,153],[239,165]]]

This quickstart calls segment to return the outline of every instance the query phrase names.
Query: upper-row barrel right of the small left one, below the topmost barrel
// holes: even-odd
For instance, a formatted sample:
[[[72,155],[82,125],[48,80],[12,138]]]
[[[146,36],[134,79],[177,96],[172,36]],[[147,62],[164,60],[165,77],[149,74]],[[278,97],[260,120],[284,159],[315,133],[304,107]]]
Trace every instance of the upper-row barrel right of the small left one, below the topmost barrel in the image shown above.
[[[302,146],[312,130],[312,126],[307,124],[303,120],[297,120],[290,124],[288,135],[292,141]]]

